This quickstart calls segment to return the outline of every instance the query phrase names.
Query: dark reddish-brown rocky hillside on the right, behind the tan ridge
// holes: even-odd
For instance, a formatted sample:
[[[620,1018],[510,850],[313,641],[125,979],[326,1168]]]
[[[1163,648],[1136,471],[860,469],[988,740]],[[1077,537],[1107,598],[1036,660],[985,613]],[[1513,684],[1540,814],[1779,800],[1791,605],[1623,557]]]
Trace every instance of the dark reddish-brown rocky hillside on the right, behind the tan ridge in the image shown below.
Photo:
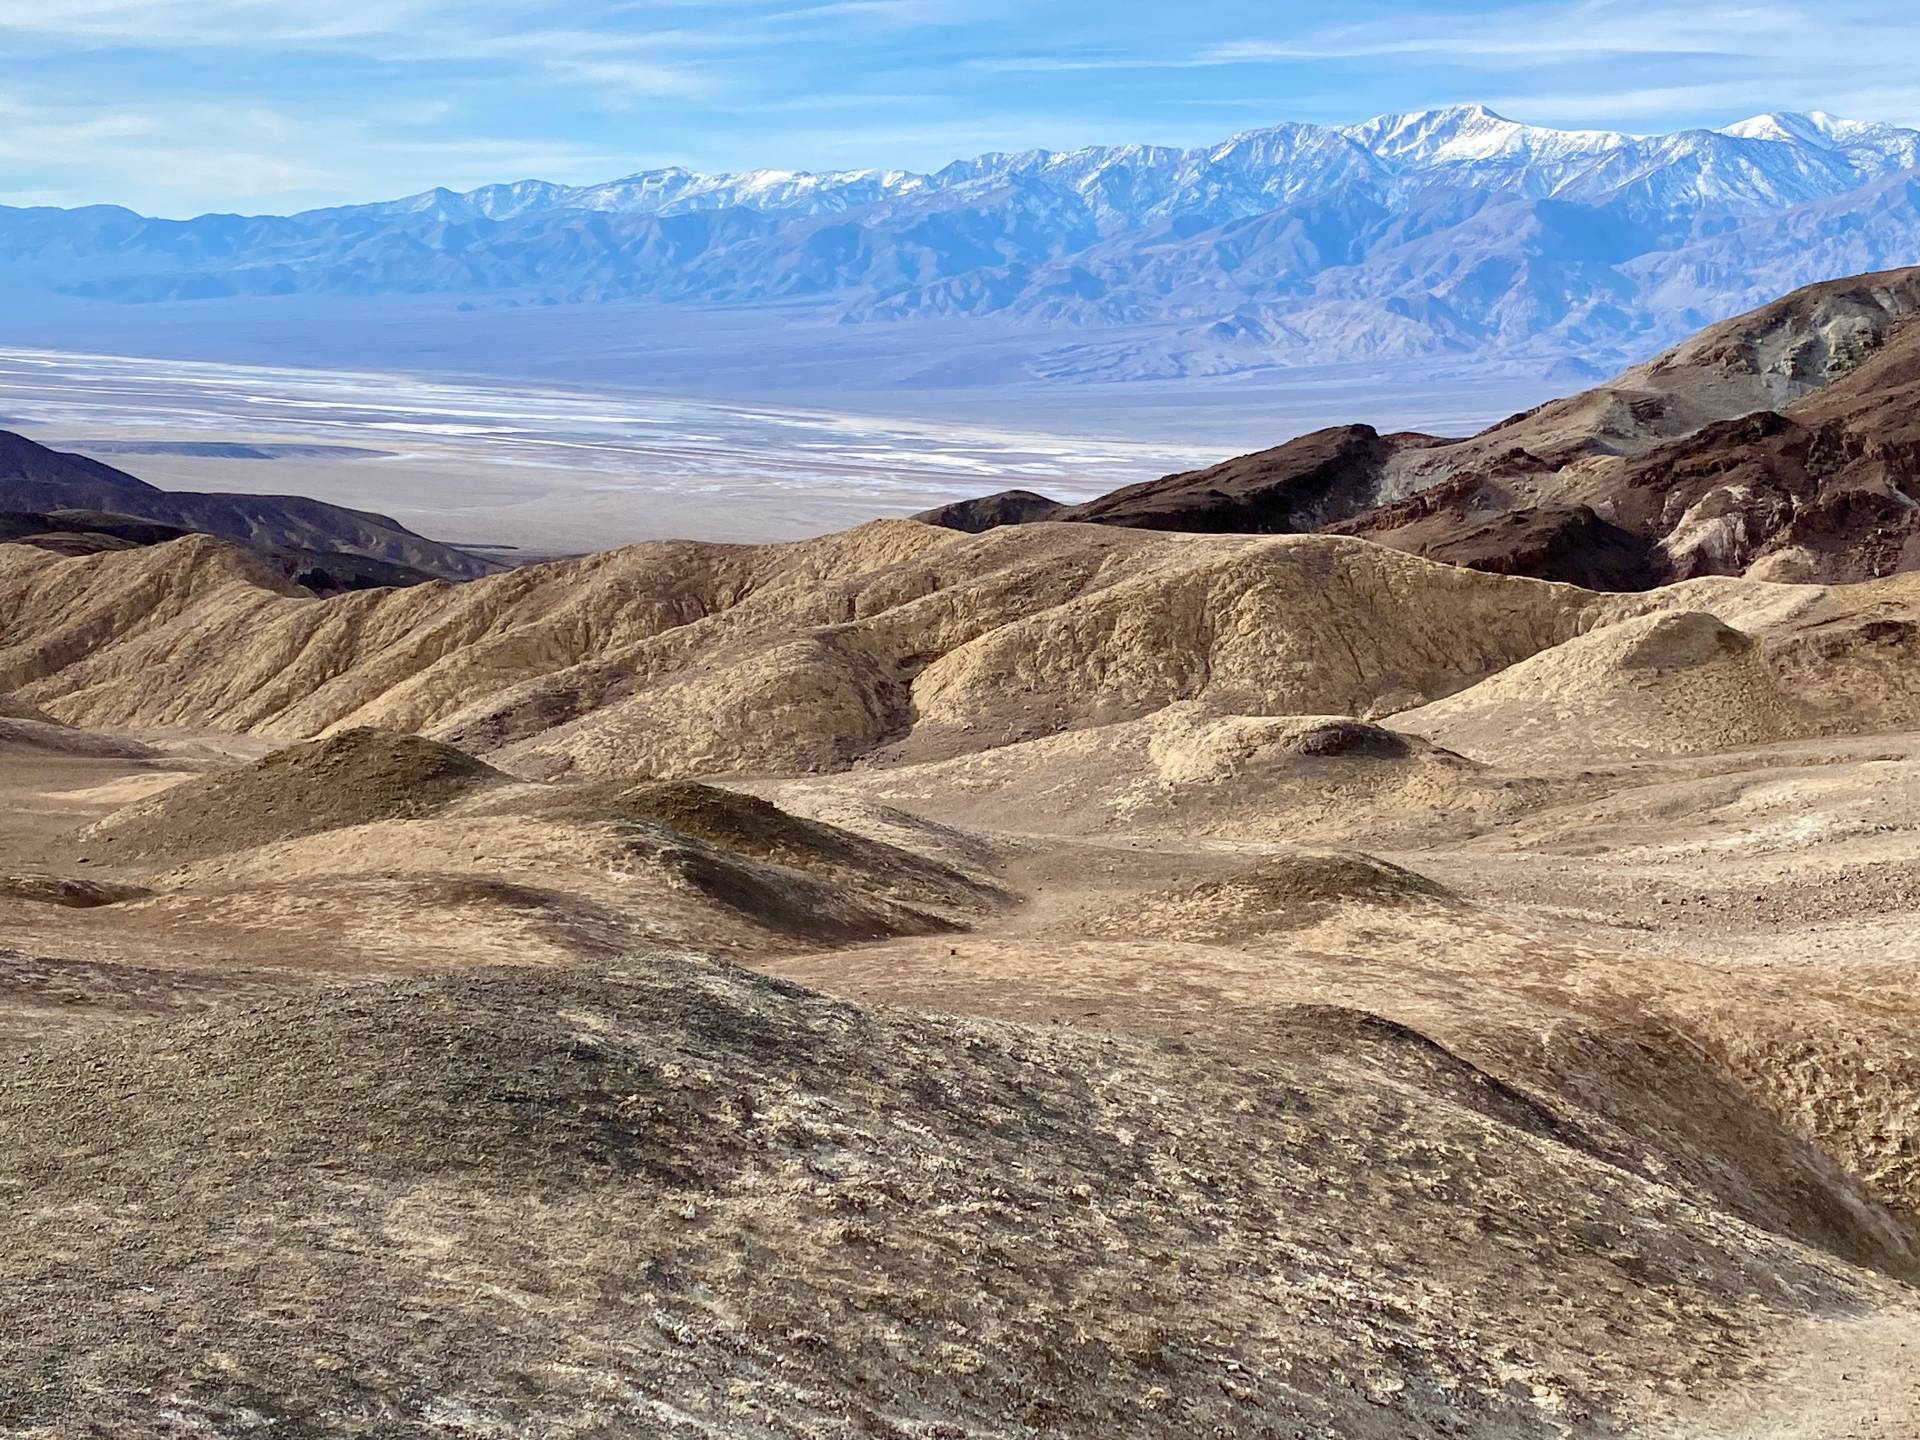
[[[1467,440],[1336,426],[1083,505],[920,518],[1332,532],[1590,589],[1920,568],[1920,269],[1809,286]]]

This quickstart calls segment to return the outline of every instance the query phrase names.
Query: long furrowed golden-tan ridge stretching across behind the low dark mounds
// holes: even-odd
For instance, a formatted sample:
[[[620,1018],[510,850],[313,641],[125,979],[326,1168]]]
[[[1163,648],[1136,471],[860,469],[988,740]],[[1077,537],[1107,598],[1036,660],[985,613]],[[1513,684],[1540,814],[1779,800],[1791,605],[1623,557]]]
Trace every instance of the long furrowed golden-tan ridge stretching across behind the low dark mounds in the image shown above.
[[[964,536],[893,520],[324,601],[188,538],[88,557],[0,549],[0,603],[15,616],[0,685],[69,724],[276,739],[382,726],[541,780],[899,764],[1175,703],[1386,714],[1611,624],[1684,612],[1755,641],[1751,685],[1774,699],[1764,718],[1745,695],[1715,701],[1728,724],[1786,739],[1857,730],[1866,714],[1920,722],[1905,580],[1596,595],[1332,538],[1077,524]],[[1716,655],[1665,641],[1592,653],[1565,682],[1569,720],[1636,676],[1707,674]],[[1716,743],[1699,732],[1651,747]]]

